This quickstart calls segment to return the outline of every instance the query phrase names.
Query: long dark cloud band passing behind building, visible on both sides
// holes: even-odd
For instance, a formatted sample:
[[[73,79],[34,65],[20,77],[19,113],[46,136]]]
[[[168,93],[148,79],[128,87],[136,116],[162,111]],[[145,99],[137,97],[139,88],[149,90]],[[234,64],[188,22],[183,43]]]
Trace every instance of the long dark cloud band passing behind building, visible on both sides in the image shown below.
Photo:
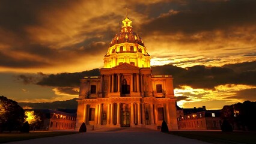
[[[181,85],[188,85],[192,88],[213,89],[215,86],[225,84],[256,85],[256,71],[246,71],[255,67],[254,64],[255,61],[233,64],[232,68],[206,67],[204,65],[196,65],[188,68],[163,65],[151,68],[153,70],[152,74],[171,74],[174,77],[174,88],[179,88]],[[245,71],[234,71],[236,68],[243,67],[243,65],[244,67],[247,67]],[[251,65],[252,67],[249,68],[248,65]],[[81,73],[50,74],[37,84],[46,86],[77,87],[79,86],[79,79],[82,79],[82,77],[99,75],[99,69],[83,71]]]

